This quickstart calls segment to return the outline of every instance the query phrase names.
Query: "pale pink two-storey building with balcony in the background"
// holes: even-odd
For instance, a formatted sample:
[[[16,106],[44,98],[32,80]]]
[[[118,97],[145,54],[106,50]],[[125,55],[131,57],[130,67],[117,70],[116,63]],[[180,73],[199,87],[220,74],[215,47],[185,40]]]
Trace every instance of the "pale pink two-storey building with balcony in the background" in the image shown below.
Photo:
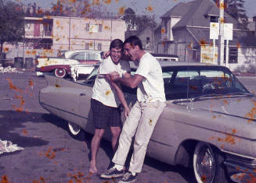
[[[56,56],[58,51],[106,51],[111,40],[124,40],[125,22],[121,19],[88,19],[65,16],[24,17],[22,43],[9,47],[7,57]]]

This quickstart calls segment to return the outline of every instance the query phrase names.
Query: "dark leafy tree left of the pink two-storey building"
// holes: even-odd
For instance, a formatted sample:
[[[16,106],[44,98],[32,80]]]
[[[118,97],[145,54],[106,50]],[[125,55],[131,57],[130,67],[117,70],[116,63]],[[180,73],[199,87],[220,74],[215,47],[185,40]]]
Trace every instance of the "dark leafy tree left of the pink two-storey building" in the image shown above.
[[[2,61],[3,44],[15,43],[23,39],[23,9],[16,2],[0,0],[0,57]]]

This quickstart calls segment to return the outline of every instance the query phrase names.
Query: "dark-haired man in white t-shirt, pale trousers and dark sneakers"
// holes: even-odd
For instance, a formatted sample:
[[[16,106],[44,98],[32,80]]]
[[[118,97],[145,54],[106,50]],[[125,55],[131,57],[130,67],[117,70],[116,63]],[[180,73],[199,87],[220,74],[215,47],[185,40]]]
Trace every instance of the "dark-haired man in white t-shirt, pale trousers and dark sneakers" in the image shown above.
[[[137,87],[137,101],[124,121],[119,145],[112,160],[114,167],[101,174],[101,178],[122,177],[119,183],[135,182],[137,173],[142,171],[147,145],[157,120],[166,106],[162,69],[156,58],[142,50],[139,37],[132,36],[124,40],[124,54],[132,61],[139,62],[139,67],[135,75],[130,78],[112,73],[112,80],[114,83],[121,83],[131,88]],[[124,162],[134,135],[132,160],[128,172],[123,174]]]

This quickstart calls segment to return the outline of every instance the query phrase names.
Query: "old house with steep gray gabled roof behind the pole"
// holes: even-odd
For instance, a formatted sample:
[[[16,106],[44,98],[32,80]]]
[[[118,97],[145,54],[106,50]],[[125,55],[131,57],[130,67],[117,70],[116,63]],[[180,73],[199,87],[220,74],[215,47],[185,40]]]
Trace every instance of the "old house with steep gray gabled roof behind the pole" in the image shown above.
[[[161,25],[154,31],[154,41],[157,42],[154,52],[178,55],[179,61],[183,62],[218,64],[218,39],[210,39],[211,23],[218,26],[219,22],[215,2],[179,2],[160,18]],[[225,23],[233,24],[233,31],[227,31],[233,33],[233,39],[228,41],[224,56],[228,67],[232,70],[248,69],[256,64],[256,38],[228,13],[225,12],[224,18]]]

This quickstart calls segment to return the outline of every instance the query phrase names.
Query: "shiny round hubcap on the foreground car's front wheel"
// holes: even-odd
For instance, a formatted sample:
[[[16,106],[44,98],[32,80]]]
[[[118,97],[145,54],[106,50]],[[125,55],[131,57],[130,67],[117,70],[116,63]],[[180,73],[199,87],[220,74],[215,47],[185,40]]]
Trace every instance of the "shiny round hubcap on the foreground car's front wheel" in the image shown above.
[[[215,159],[208,146],[201,146],[197,154],[196,171],[202,182],[211,182],[215,176]]]

